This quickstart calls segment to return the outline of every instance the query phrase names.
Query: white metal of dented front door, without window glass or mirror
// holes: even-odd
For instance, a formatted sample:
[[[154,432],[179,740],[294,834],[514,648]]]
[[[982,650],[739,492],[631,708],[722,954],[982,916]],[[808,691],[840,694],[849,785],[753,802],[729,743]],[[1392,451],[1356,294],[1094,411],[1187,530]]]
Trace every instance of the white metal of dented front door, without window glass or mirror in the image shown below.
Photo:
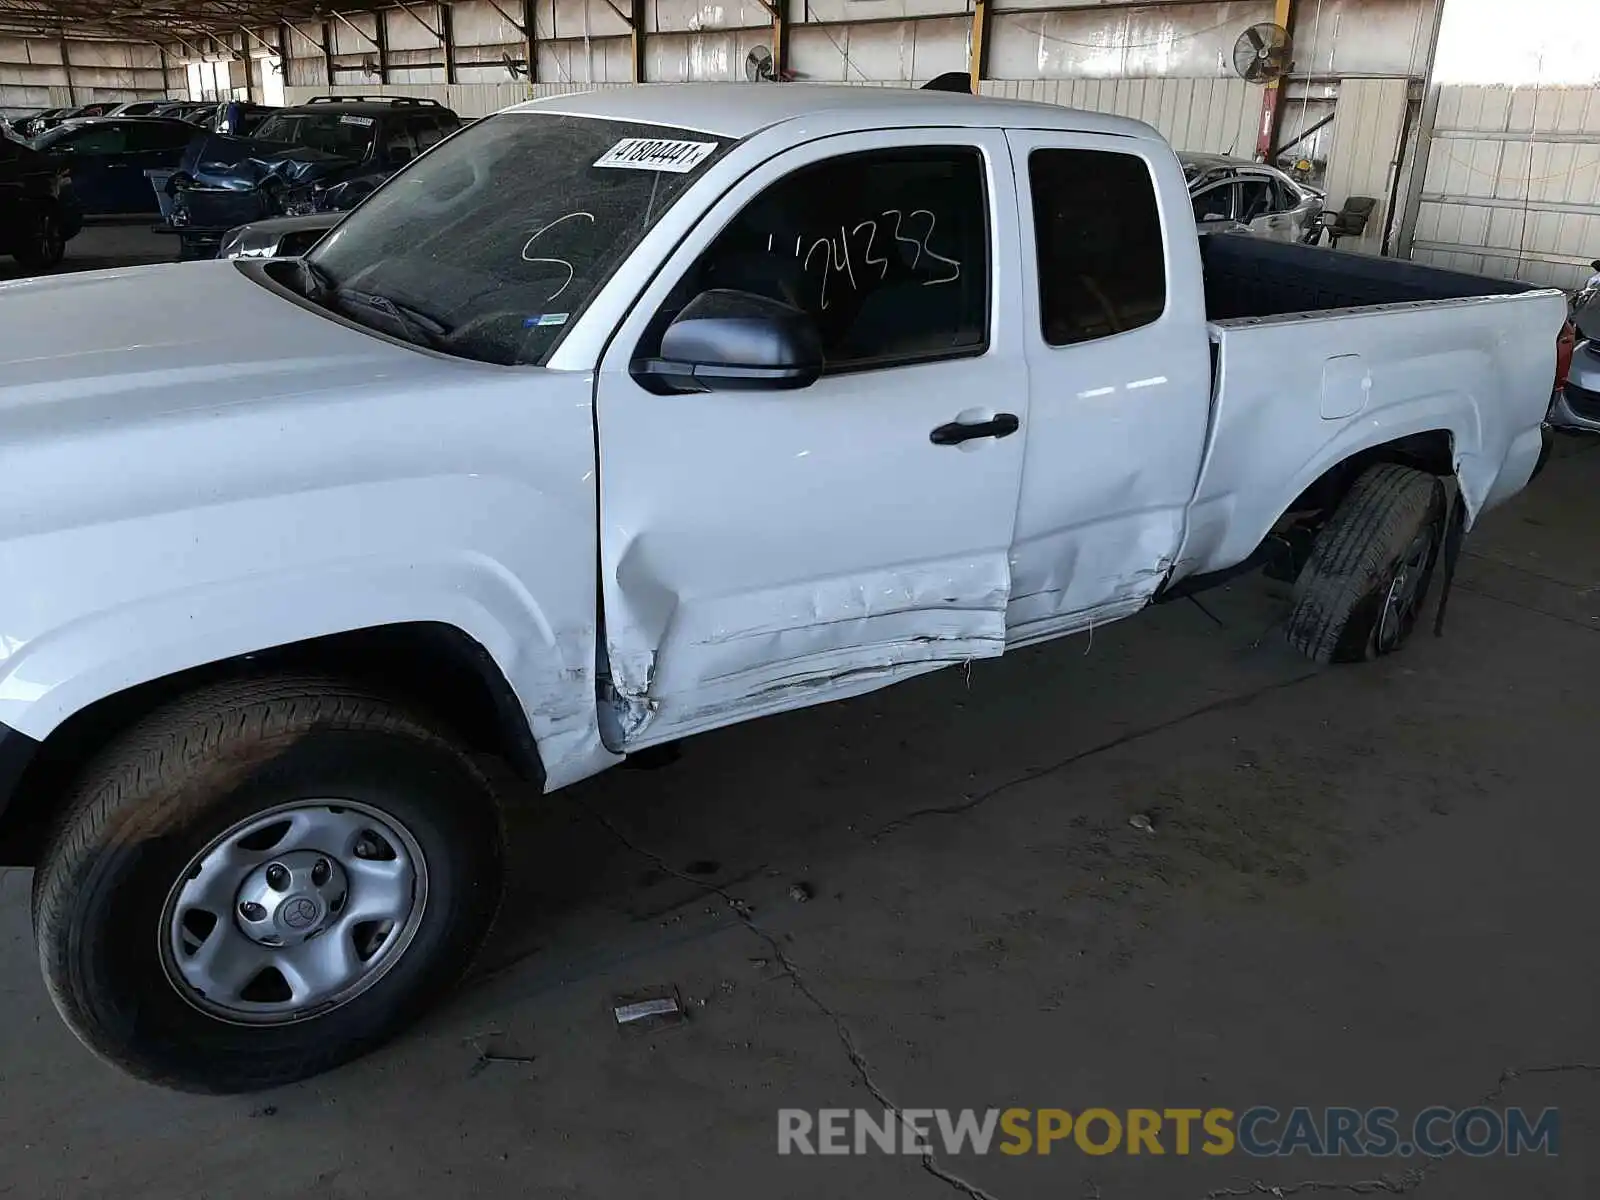
[[[1005,648],[1029,416],[1016,226],[994,218],[1016,203],[1003,134],[904,130],[891,142],[984,155],[986,352],[826,374],[794,392],[654,395],[627,370],[650,318],[750,200],[805,165],[886,141],[824,139],[746,176],[643,291],[602,362],[600,574],[624,749]],[[1002,411],[1018,432],[931,438]]]

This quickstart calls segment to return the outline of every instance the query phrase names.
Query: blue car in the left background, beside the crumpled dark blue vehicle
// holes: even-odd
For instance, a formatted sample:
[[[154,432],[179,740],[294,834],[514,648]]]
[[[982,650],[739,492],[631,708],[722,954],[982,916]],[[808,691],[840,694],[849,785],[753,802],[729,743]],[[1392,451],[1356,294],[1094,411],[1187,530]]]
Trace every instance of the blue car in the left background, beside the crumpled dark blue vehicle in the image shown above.
[[[35,150],[72,171],[72,190],[91,216],[155,213],[146,171],[173,170],[184,147],[205,136],[189,122],[165,117],[70,120],[32,141]]]

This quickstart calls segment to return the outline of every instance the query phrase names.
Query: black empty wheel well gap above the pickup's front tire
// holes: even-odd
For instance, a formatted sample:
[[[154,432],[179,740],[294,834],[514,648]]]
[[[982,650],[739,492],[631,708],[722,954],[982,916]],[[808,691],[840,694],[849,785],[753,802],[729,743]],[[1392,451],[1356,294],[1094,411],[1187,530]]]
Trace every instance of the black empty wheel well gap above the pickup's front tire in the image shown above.
[[[72,714],[45,738],[0,813],[0,866],[32,866],[62,792],[83,763],[152,709],[210,683],[280,672],[365,683],[410,702],[466,747],[506,758],[525,779],[544,781],[522,704],[482,645],[435,622],[358,629],[179,670]]]

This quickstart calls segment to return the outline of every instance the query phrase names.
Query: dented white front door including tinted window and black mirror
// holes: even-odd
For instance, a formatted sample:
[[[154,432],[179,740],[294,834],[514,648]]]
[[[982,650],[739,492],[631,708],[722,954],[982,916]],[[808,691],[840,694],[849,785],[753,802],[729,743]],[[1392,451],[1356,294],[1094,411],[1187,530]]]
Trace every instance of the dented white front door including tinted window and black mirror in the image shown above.
[[[1002,653],[1014,211],[998,130],[826,138],[746,174],[642,291],[597,384],[626,749]]]

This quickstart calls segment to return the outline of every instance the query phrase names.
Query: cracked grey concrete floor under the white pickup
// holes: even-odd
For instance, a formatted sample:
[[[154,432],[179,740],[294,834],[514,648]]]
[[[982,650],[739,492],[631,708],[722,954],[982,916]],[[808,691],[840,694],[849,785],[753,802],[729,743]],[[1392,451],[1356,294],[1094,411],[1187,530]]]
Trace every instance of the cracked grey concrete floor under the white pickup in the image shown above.
[[[8,872],[0,1195],[1594,1197],[1597,496],[1600,454],[1563,440],[1469,539],[1446,637],[1379,664],[1309,667],[1253,579],[1211,616],[1173,605],[522,797],[478,976],[267,1096],[91,1059]],[[619,1035],[613,998],[662,986],[691,1019]],[[776,1154],[779,1107],[885,1099],[1488,1099],[1560,1107],[1562,1154]]]

